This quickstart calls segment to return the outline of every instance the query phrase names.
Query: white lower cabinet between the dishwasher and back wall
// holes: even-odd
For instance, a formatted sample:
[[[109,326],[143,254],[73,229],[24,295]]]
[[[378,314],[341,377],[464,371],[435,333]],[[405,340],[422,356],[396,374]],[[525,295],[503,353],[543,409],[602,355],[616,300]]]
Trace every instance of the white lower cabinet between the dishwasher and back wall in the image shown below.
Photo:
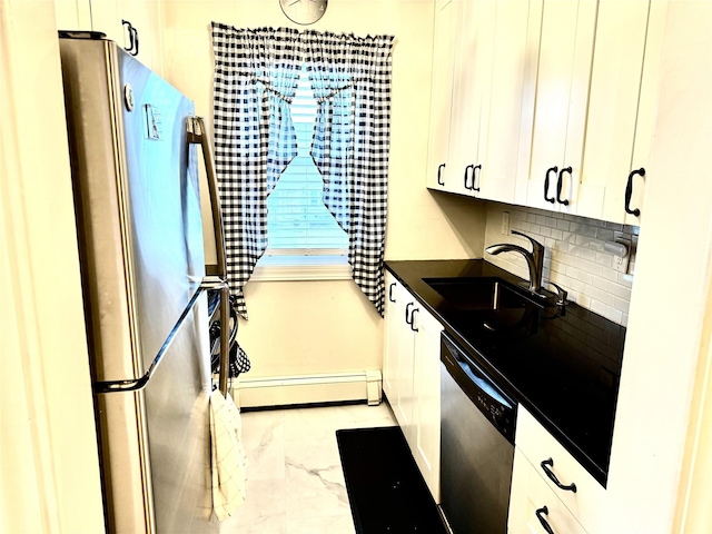
[[[443,327],[386,271],[384,392],[433,497],[439,497]]]

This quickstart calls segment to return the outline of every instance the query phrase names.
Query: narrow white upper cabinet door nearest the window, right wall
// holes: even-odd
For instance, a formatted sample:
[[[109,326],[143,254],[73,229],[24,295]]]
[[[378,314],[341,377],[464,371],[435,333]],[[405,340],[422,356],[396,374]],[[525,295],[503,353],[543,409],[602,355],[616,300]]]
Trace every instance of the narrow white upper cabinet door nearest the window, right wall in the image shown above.
[[[435,2],[426,186],[444,191],[456,190],[449,161],[456,9],[453,0]]]

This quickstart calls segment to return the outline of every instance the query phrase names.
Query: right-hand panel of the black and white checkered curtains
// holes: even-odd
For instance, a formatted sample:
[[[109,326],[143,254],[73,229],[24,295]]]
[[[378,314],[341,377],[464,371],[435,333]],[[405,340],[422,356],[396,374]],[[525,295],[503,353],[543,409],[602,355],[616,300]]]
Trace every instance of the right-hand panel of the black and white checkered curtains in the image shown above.
[[[318,102],[312,157],[324,204],[348,234],[356,284],[383,315],[393,37],[305,31]]]

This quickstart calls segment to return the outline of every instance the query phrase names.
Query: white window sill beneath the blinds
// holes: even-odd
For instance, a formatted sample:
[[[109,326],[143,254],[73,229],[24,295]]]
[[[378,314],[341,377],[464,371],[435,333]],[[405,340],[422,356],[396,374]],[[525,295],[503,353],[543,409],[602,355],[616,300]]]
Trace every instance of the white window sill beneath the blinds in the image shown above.
[[[250,281],[350,280],[346,256],[267,256],[259,260]]]

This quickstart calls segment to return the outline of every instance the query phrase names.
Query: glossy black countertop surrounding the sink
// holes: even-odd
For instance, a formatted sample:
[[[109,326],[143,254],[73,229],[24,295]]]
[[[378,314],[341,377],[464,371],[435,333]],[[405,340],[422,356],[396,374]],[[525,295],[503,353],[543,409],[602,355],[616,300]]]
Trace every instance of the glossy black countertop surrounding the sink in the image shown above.
[[[423,280],[495,277],[514,286],[524,281],[483,259],[386,261],[386,268],[605,486],[624,327],[573,303],[563,313],[533,305],[464,309]]]

